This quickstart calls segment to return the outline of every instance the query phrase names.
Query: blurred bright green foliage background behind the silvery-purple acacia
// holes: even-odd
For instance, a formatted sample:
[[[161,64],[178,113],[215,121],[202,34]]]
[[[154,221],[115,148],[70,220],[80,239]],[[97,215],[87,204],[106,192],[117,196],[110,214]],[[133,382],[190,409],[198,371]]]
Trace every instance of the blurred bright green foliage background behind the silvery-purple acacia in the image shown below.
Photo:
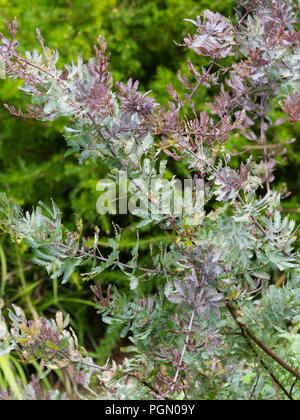
[[[158,102],[166,104],[166,86],[172,82],[181,89],[177,71],[185,71],[187,58],[197,66],[207,63],[206,59],[173,42],[181,42],[186,33],[193,30],[183,19],[195,18],[207,8],[232,16],[234,7],[234,0],[0,0],[0,31],[5,33],[5,20],[16,16],[20,25],[20,48],[33,50],[38,47],[35,28],[39,27],[45,43],[59,51],[61,65],[76,60],[78,55],[87,60],[93,54],[98,35],[102,34],[112,53],[114,80],[138,79],[143,91],[152,89]],[[208,95],[206,89],[199,92],[200,109],[209,101]],[[18,82],[1,80],[0,102],[22,107],[28,98],[18,90]],[[31,209],[39,200],[49,203],[53,198],[70,227],[75,215],[80,215],[87,233],[96,225],[100,227],[105,245],[105,236],[112,231],[111,220],[100,217],[95,205],[96,183],[105,177],[106,168],[79,166],[76,157],[65,157],[61,134],[64,121],[50,124],[21,120],[10,116],[2,107],[0,121],[0,191],[5,191],[25,209]],[[280,139],[297,138],[299,128],[286,124],[275,134]],[[235,137],[232,144],[240,148],[247,141]],[[292,192],[284,211],[293,212],[300,220],[297,216],[300,211],[298,151],[299,144],[288,146],[288,159],[279,167],[277,175],[280,183],[285,183]],[[177,169],[180,171],[180,167]],[[122,242],[126,255],[134,244],[136,220],[128,216],[121,222],[127,226]],[[149,227],[144,228],[143,234],[141,246],[145,249],[149,249],[149,242],[163,240],[167,243],[174,239],[171,233],[164,234]],[[79,273],[74,273],[65,286],[50,282],[42,269],[30,263],[26,246],[12,244],[5,235],[0,235],[0,261],[2,283],[5,281],[0,306],[16,303],[29,314],[37,311],[50,315],[57,309],[70,313],[81,344],[87,345],[97,362],[105,362],[117,347],[118,336],[105,334],[93,308],[89,285],[81,282]],[[102,275],[101,281],[122,287],[128,280],[117,272],[109,272]],[[153,282],[145,284],[145,290],[152,287]],[[16,360],[12,362],[15,369],[22,372],[24,368]],[[5,385],[0,369],[0,386],[1,381]]]

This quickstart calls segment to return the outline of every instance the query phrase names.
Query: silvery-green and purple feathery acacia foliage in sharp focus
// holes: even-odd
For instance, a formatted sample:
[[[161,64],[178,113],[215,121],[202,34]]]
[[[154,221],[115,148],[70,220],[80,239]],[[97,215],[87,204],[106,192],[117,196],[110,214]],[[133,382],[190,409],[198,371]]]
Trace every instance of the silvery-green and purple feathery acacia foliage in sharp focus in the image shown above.
[[[39,30],[41,50],[23,54],[17,21],[7,24],[2,61],[33,98],[26,111],[7,105],[13,115],[68,118],[69,153],[81,164],[104,162],[112,178],[121,168],[129,179],[147,182],[166,177],[168,164],[181,161],[195,184],[198,178],[204,183],[205,214],[190,226],[186,214],[152,217],[140,210],[140,226],[151,223],[176,234],[172,245],[152,250],[149,268],[139,262],[138,242],[132,259],[122,261],[118,227],[111,253],[103,256],[97,229],[87,240],[82,220],[71,232],[54,203],[24,213],[2,194],[3,229],[26,241],[33,262],[50,278],[67,283],[82,266],[83,279],[97,279],[91,288],[102,321],[109,332],[120,331],[132,342],[123,349],[130,357],[122,363],[99,366],[78,346],[61,313],[56,320],[29,321],[14,307],[11,326],[2,321],[2,354],[15,349],[27,363],[38,359],[48,369],[68,368],[78,396],[86,399],[299,398],[296,226],[280,213],[285,189],[273,189],[277,157],[285,154],[289,139],[268,142],[281,124],[272,118],[274,108],[281,107],[291,123],[299,121],[298,12],[292,0],[240,1],[235,19],[205,11],[189,20],[195,28],[181,46],[210,61],[203,67],[188,61],[188,74],[178,73],[185,94],[169,85],[166,107],[150,92],[141,93],[132,79],[113,83],[103,37],[87,64],[79,58],[59,67],[58,52],[45,46]],[[235,57],[231,65],[223,62],[228,57]],[[210,111],[198,110],[195,98],[202,85],[218,90],[207,104]],[[257,161],[248,158],[238,169],[226,145],[235,132],[262,150]],[[131,192],[138,199],[153,198],[135,185]],[[125,273],[128,288],[120,293],[109,286],[105,295],[101,276],[113,269]],[[275,270],[285,275],[284,284],[273,284]],[[159,280],[157,292],[143,294],[142,283],[153,278]],[[24,397],[28,392],[31,398],[61,397],[34,384]]]

